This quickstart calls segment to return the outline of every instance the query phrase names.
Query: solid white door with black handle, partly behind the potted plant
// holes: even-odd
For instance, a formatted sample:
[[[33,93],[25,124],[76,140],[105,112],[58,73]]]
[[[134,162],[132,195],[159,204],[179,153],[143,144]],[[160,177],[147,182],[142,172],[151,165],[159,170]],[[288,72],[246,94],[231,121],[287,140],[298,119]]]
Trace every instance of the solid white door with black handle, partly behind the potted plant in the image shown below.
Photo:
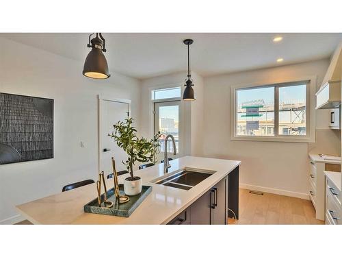
[[[108,134],[114,131],[114,124],[129,117],[129,100],[100,99],[100,112],[100,171],[105,171],[106,175],[113,173],[111,157],[114,157],[116,162],[116,171],[127,170],[126,165],[122,164],[122,160],[127,160],[127,154],[116,145],[114,139]]]

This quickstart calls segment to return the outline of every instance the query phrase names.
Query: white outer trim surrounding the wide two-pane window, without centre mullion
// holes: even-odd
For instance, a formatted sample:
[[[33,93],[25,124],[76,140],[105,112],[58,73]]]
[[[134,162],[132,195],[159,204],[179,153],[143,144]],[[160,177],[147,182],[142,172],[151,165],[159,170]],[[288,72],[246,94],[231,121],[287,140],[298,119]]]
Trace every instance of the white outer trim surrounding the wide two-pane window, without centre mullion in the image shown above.
[[[309,108],[306,108],[306,136],[237,136],[236,135],[236,92],[241,88],[253,88],[258,86],[272,86],[274,84],[288,84],[295,82],[309,81],[306,86],[306,102]],[[267,141],[267,142],[292,142],[292,143],[315,143],[316,142],[316,115],[315,115],[315,91],[317,84],[317,75],[308,77],[293,77],[291,79],[265,81],[249,84],[239,84],[231,86],[231,140],[248,141]],[[276,103],[274,103],[276,104]],[[276,125],[275,125],[276,130]],[[276,132],[275,132],[276,133]]]

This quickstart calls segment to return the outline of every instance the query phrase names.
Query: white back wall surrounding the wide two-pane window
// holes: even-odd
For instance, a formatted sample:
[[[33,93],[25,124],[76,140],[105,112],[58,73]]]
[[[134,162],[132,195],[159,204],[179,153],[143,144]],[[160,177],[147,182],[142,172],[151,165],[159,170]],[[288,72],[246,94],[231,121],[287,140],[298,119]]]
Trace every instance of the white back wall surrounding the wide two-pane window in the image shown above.
[[[307,197],[309,144],[231,140],[231,86],[317,75],[316,88],[319,88],[328,64],[328,60],[319,60],[205,77],[204,156],[241,160],[242,186],[274,188],[277,193]],[[317,152],[328,149],[331,154],[339,154],[340,136],[328,129],[327,110],[317,111],[317,127],[317,142],[310,144],[310,149]],[[328,141],[329,145],[325,143]]]

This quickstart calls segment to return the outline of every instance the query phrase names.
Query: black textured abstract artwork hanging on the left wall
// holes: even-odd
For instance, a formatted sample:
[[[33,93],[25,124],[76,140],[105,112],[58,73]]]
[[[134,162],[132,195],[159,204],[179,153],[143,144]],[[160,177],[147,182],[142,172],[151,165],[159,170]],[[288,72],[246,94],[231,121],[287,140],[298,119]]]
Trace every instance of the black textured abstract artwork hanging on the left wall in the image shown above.
[[[53,158],[53,99],[0,93],[0,164]]]

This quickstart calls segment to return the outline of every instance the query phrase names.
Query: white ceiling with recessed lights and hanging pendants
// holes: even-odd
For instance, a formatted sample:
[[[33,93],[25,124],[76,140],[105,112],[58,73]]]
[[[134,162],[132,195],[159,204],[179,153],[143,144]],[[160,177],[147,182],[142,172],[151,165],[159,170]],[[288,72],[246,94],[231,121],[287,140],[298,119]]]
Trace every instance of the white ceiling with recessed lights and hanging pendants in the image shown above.
[[[283,40],[274,43],[274,36]],[[88,34],[0,34],[83,62]],[[342,34],[116,34],[103,33],[111,75],[144,79],[187,69],[185,38],[192,38],[192,70],[207,76],[328,58]],[[276,63],[277,58],[284,62]]]

